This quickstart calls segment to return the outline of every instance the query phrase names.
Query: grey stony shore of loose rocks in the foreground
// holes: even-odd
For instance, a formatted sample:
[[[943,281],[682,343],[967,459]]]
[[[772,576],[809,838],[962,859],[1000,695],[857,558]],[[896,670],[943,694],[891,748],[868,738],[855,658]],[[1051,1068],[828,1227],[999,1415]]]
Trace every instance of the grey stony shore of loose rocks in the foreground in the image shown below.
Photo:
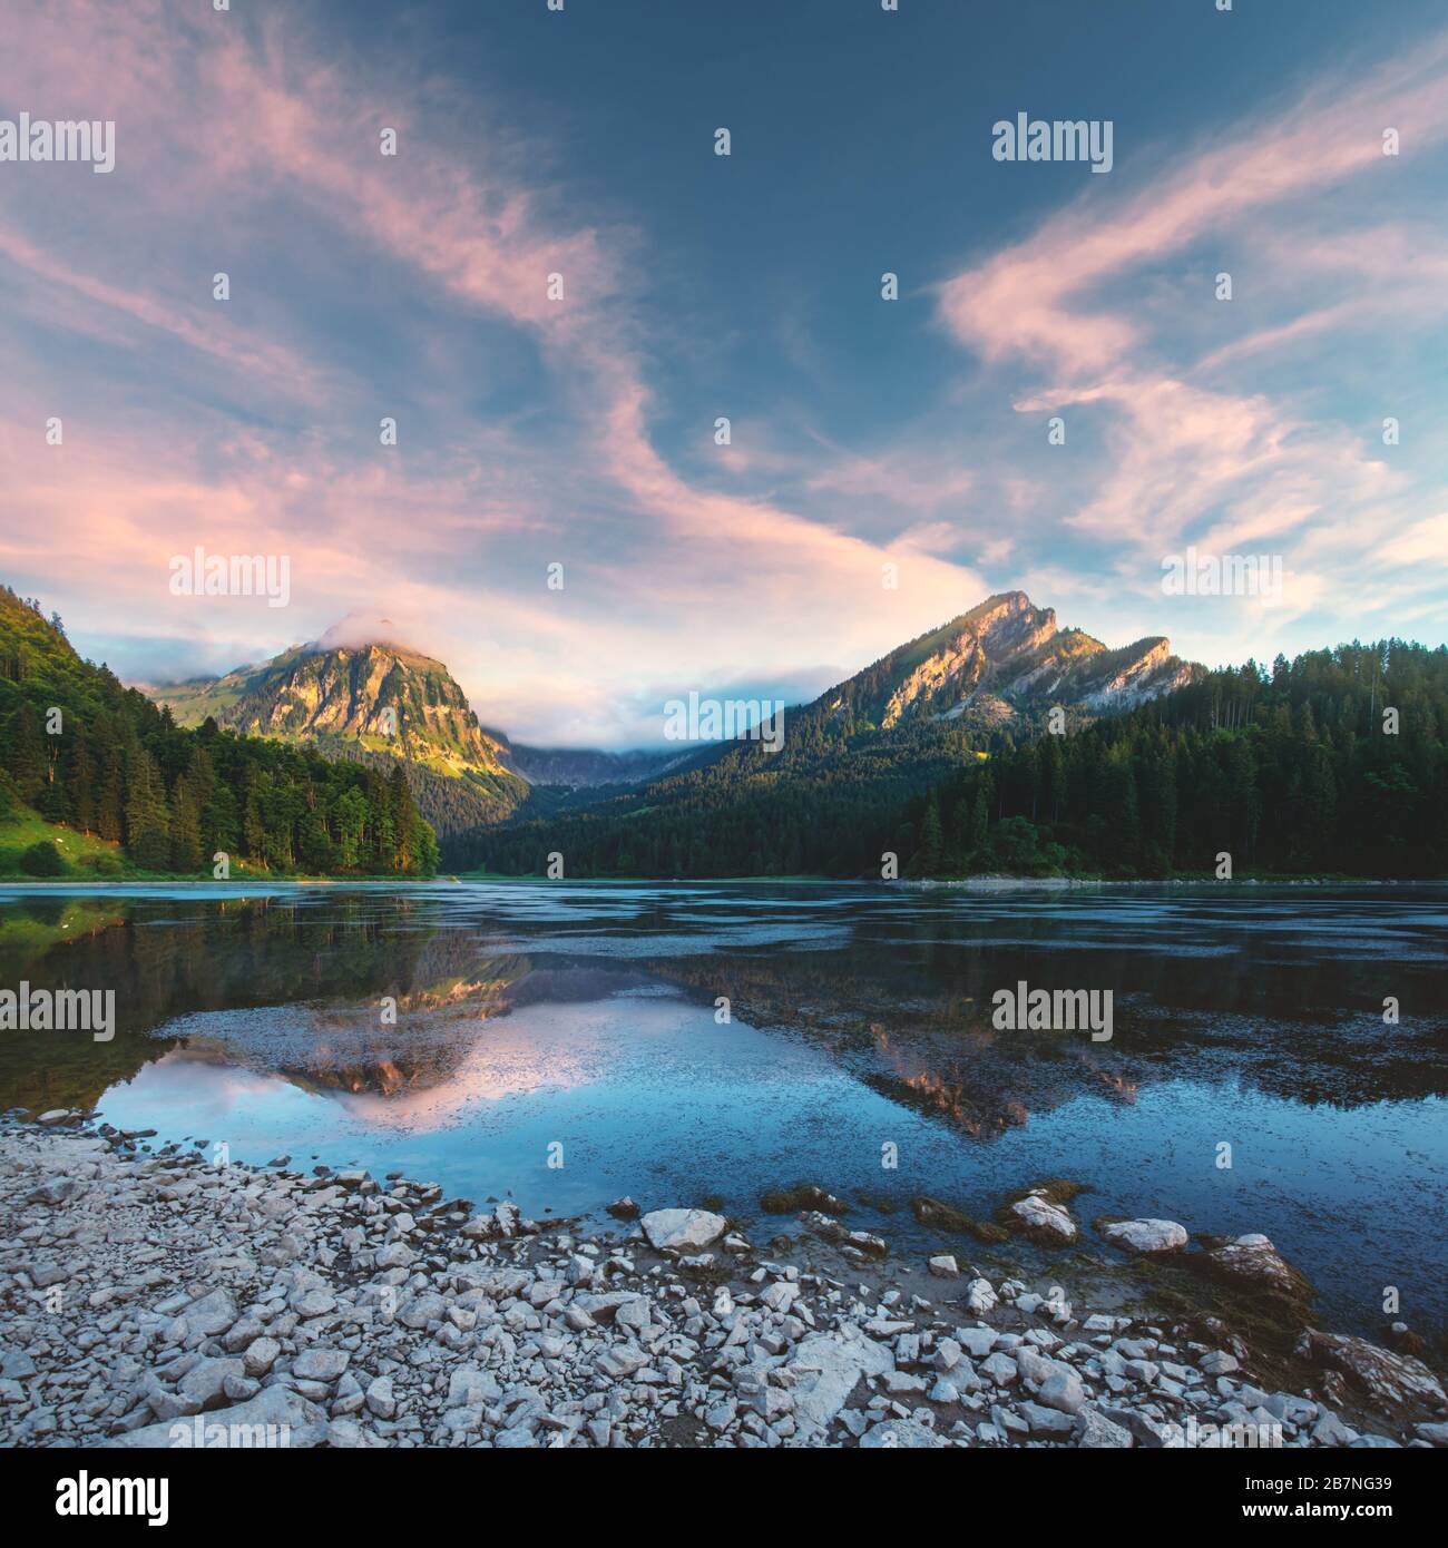
[[[0,1124],[0,1444],[1448,1446],[1443,1387],[1403,1350],[1304,1330],[1282,1390],[1217,1317],[900,1262],[819,1207],[767,1248],[629,1201],[584,1232],[149,1139]],[[1002,1218],[1075,1228],[1048,1189]],[[1172,1221],[1100,1228],[1182,1245]],[[1265,1237],[1214,1251],[1268,1291],[1293,1276]]]

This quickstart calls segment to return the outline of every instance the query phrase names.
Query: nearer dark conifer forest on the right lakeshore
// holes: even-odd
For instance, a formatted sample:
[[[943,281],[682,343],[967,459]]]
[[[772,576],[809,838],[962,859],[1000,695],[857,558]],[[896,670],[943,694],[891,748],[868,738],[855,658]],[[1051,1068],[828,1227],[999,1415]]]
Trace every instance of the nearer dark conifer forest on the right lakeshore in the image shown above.
[[[1448,873],[1448,652],[1340,646],[1214,672],[1005,746],[909,805],[917,875]]]

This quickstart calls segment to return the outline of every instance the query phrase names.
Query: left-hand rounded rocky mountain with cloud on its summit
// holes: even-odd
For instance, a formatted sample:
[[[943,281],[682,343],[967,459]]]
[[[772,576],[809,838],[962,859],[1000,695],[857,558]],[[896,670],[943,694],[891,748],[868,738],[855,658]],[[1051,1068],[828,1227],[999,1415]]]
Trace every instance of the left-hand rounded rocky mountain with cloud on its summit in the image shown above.
[[[147,692],[183,726],[211,715],[333,759],[401,759],[423,816],[443,837],[503,820],[530,793],[506,741],[483,731],[441,661],[389,635],[386,619],[372,628],[344,619],[271,661]]]

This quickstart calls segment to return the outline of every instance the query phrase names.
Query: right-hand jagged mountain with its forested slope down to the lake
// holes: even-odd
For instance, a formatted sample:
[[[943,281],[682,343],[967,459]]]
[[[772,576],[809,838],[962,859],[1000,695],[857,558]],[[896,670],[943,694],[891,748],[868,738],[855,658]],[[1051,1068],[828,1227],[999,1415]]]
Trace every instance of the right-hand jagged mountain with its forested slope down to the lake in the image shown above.
[[[683,766],[582,811],[454,836],[449,861],[536,873],[558,851],[568,875],[878,872],[883,813],[1045,731],[1052,709],[1076,731],[1200,675],[1165,638],[1110,650],[1005,591],[787,709],[777,749],[683,743],[697,749]]]

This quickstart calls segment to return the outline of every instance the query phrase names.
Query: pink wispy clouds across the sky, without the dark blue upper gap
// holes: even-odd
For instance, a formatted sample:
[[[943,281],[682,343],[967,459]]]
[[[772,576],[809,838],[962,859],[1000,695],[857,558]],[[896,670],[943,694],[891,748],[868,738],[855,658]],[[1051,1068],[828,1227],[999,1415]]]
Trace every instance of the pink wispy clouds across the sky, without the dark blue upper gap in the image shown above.
[[[714,449],[708,418],[677,435],[700,345],[650,289],[672,228],[568,181],[475,82],[339,42],[321,11],[12,0],[8,31],[0,104],[113,118],[118,164],[6,176],[0,563],[122,667],[256,659],[361,607],[426,630],[485,718],[618,743],[683,686],[822,687],[1002,585],[1079,599],[1112,639],[1175,633],[1155,559],[1188,540],[1281,545],[1284,611],[1321,627],[1355,576],[1429,604],[1433,443],[1378,440],[1412,370],[1397,410],[1324,365],[1442,316],[1448,255],[1402,189],[1448,139],[1445,37],[1166,164],[1120,138],[1110,178],[938,288],[921,350],[959,370],[909,426],[832,426],[762,367],[748,433]],[[785,334],[798,370],[813,334]],[[835,358],[808,354],[822,398]],[[1035,433],[1050,413],[1061,455]],[[169,598],[197,542],[291,556],[288,638],[246,599]],[[1183,624],[1233,653],[1230,621]]]

